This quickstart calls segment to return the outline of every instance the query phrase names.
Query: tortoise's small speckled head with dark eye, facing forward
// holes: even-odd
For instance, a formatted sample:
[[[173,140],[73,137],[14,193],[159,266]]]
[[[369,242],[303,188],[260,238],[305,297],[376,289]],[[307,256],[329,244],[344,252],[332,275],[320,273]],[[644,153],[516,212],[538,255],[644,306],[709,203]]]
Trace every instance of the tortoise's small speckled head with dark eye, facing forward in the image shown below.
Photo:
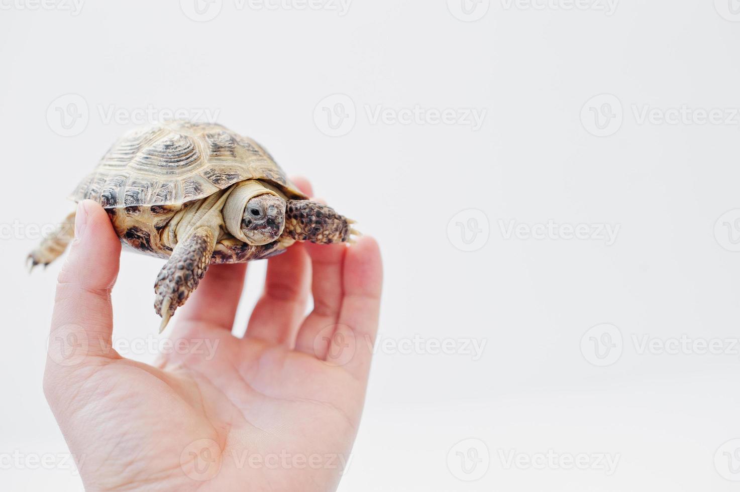
[[[285,226],[285,200],[275,195],[250,198],[244,207],[241,232],[248,243],[260,246],[277,240]]]

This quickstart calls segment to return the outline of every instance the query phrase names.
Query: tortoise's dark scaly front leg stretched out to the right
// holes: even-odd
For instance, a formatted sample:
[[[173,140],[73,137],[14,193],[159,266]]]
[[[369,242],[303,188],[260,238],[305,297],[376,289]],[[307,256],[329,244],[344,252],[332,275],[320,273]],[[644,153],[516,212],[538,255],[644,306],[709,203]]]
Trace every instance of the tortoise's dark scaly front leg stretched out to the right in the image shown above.
[[[344,218],[323,203],[288,200],[283,235],[319,244],[352,242],[351,235],[360,235],[351,228],[352,223],[354,220]]]

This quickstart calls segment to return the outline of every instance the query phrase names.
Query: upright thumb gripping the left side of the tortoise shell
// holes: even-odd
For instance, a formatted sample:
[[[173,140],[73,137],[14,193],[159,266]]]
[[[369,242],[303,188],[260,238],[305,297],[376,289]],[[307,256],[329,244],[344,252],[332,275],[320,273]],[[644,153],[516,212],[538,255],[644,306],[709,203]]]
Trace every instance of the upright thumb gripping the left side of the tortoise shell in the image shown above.
[[[120,357],[111,346],[110,301],[120,255],[121,242],[105,210],[92,200],[79,203],[75,240],[56,286],[47,370]]]

